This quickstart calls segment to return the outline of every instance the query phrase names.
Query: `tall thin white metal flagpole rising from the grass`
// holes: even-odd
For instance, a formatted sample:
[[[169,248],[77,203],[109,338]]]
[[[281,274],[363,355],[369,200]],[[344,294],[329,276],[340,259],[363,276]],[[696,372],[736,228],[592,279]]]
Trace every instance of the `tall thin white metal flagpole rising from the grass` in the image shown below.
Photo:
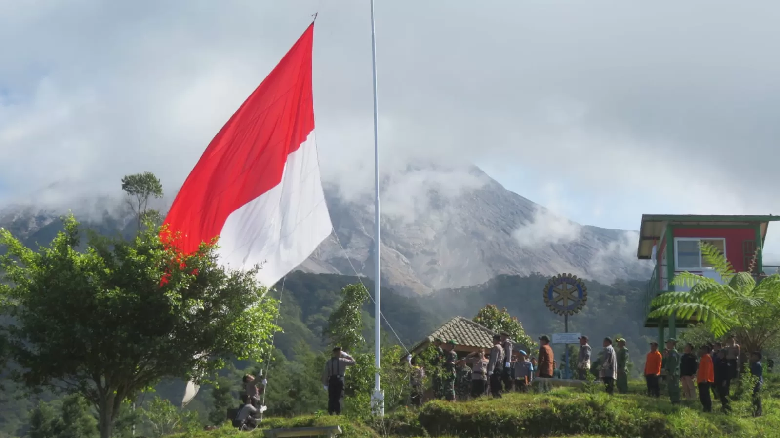
[[[371,67],[374,70],[374,412],[385,415],[385,401],[381,390],[379,369],[381,367],[381,271],[379,259],[381,240],[379,228],[379,107],[377,103],[377,33],[374,27],[374,0],[371,0]]]

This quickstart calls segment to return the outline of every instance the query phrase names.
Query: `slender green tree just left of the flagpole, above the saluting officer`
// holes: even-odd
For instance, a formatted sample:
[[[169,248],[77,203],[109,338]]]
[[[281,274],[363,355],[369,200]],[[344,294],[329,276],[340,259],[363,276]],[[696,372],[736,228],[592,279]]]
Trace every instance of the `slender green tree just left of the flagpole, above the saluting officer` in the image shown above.
[[[328,318],[326,334],[331,346],[346,351],[365,343],[363,337],[363,304],[368,300],[368,291],[363,284],[348,284],[341,291],[342,302]]]

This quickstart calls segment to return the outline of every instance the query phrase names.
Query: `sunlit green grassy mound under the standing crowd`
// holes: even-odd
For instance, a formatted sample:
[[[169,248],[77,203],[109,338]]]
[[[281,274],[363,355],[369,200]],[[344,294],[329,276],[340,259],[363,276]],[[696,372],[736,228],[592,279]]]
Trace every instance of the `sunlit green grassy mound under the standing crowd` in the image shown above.
[[[264,429],[281,427],[342,427],[345,438],[378,436],[569,436],[596,438],[608,436],[642,438],[711,438],[729,436],[750,438],[777,436],[780,430],[780,380],[771,376],[764,391],[764,416],[750,416],[750,399],[732,401],[733,412],[704,413],[698,401],[672,405],[668,398],[654,399],[644,394],[644,385],[632,382],[630,393],[609,397],[599,391],[583,392],[556,388],[547,394],[509,394],[500,400],[448,403],[431,401],[420,410],[401,408],[384,421],[367,422],[349,415],[303,415],[288,419],[269,418]],[[188,434],[196,437],[261,436],[222,429]],[[182,436],[183,437],[183,436]]]

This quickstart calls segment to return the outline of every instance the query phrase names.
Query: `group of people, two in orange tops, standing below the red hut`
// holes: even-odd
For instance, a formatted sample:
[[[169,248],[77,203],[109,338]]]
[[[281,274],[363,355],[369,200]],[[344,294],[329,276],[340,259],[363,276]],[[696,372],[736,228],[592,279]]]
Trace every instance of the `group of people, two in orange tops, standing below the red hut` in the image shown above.
[[[682,383],[683,397],[695,400],[698,393],[704,412],[712,412],[713,395],[721,402],[723,412],[730,412],[732,381],[742,373],[740,358],[742,351],[733,334],[725,345],[714,342],[695,348],[693,344],[686,344],[683,355],[677,351],[675,338],[666,341],[663,353],[658,351],[658,342],[651,342],[644,366],[647,394],[660,397],[661,381],[665,381],[669,400],[678,404]],[[750,374],[756,382],[752,394],[755,416],[763,414],[761,387],[764,385],[764,368],[761,359],[761,351],[750,353]],[[773,365],[773,362],[768,362],[768,371]]]

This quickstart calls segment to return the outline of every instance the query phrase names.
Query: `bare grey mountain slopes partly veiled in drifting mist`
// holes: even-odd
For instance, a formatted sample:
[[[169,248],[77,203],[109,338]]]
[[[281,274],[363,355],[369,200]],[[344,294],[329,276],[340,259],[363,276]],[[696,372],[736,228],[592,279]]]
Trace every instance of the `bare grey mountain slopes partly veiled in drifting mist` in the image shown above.
[[[373,193],[341,182],[326,183],[325,196],[335,233],[300,270],[373,277]],[[165,210],[172,199],[155,207]],[[636,231],[576,224],[474,166],[409,166],[383,179],[381,202],[383,281],[405,293],[483,284],[502,274],[572,273],[611,284],[647,279],[652,270],[651,263],[636,260]],[[102,233],[132,228],[118,196],[90,196],[65,182],[0,209],[0,226],[27,245],[45,244],[68,210]]]

